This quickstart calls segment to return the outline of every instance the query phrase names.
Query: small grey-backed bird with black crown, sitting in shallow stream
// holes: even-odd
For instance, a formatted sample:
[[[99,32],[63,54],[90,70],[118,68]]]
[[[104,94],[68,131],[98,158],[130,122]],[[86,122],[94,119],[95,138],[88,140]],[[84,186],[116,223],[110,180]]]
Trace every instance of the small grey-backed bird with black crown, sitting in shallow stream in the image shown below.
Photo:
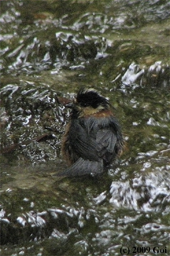
[[[121,127],[112,105],[94,88],[80,88],[71,108],[70,121],[61,143],[61,154],[69,167],[58,176],[102,174],[123,152]]]

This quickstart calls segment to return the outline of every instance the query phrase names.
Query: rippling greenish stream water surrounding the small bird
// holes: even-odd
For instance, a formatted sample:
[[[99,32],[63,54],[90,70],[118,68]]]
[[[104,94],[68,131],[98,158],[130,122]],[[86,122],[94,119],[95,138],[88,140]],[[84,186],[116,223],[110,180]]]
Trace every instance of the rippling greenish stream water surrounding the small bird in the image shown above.
[[[1,255],[169,255],[169,1],[1,1]],[[127,149],[66,178],[64,105],[109,98]]]

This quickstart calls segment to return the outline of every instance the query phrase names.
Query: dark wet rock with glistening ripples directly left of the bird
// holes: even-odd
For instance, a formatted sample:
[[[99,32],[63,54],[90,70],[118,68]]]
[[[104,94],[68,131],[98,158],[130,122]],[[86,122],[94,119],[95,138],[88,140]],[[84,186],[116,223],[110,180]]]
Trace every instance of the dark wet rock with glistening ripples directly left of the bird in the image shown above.
[[[1,89],[1,101],[7,115],[1,151],[18,149],[33,163],[56,158],[66,122],[57,93],[35,85],[11,84]],[[46,147],[41,146],[43,141]]]

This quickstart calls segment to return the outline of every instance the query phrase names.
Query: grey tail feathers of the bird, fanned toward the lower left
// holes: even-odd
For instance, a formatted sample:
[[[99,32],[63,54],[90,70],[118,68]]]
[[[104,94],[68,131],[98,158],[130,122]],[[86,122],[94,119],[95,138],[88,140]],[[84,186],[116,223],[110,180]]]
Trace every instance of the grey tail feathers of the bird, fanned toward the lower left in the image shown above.
[[[83,176],[86,174],[90,174],[95,176],[97,174],[101,174],[103,172],[103,160],[100,162],[84,160],[83,158],[78,158],[77,162],[73,163],[72,166],[67,168],[65,171],[59,173],[57,176],[67,176],[67,177],[75,177],[75,176]]]

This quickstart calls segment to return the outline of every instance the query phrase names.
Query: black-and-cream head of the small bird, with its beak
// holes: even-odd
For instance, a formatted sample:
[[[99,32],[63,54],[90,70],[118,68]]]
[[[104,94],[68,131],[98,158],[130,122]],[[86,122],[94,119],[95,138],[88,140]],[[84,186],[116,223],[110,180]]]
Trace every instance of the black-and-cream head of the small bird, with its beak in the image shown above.
[[[73,115],[83,117],[107,110],[109,101],[94,88],[83,88],[78,91],[73,103],[68,104],[67,107],[72,108]]]

